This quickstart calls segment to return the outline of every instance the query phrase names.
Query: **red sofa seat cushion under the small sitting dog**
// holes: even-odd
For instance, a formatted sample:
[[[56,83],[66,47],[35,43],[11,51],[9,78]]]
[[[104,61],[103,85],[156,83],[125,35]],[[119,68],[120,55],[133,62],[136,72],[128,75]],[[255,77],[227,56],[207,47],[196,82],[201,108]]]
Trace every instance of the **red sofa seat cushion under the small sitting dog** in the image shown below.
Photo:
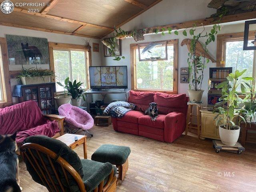
[[[159,114],[155,121],[151,120],[148,115],[141,116],[138,123],[140,125],[146,125],[154,128],[164,129],[164,119],[166,115]]]

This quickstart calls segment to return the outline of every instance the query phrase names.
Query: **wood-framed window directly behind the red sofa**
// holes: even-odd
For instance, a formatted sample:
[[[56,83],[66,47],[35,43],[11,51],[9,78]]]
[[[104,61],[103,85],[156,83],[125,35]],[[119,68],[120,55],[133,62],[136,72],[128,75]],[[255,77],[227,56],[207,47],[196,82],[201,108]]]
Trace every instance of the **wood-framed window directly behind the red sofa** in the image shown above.
[[[157,47],[158,54],[165,54],[165,47]],[[168,60],[139,61],[138,44],[131,44],[132,89],[157,90],[177,93],[178,40],[168,41]]]

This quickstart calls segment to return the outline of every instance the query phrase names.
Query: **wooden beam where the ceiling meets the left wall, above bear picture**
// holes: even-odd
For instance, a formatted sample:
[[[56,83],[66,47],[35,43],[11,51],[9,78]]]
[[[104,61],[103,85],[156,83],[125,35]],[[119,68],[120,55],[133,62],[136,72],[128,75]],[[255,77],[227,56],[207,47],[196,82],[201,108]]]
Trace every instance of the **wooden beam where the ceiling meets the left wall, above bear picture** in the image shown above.
[[[0,22],[0,25],[9,26],[9,27],[18,27],[18,28],[24,28],[24,29],[31,29],[31,30],[37,30],[37,31],[44,31],[44,32],[50,32],[50,33],[58,33],[58,34],[64,34],[64,35],[74,35],[74,36],[79,36],[79,37],[100,39],[99,37],[96,37],[96,36],[83,35],[83,34],[70,33],[70,32],[63,32],[63,31],[56,31],[56,30],[50,30],[50,29],[43,29],[43,28],[32,27],[32,26],[16,25],[16,24],[11,24],[11,23],[4,23],[4,22]]]

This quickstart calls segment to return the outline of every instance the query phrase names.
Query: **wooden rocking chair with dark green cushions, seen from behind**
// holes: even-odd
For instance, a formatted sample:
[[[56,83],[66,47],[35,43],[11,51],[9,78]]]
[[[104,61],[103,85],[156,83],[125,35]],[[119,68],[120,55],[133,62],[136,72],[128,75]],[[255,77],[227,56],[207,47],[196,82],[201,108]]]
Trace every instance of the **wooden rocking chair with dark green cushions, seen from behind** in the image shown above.
[[[81,159],[63,142],[30,136],[20,147],[33,180],[49,192],[115,192],[116,167]]]

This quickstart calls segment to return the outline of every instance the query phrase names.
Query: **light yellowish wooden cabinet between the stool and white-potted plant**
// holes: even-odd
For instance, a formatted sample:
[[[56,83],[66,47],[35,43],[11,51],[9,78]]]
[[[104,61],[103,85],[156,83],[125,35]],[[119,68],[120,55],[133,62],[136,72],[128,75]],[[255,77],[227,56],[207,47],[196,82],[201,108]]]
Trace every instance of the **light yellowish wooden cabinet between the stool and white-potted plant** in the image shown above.
[[[208,111],[206,108],[200,110],[201,112],[201,134],[200,139],[211,138],[220,140],[219,128],[216,126],[214,117],[218,113]]]

